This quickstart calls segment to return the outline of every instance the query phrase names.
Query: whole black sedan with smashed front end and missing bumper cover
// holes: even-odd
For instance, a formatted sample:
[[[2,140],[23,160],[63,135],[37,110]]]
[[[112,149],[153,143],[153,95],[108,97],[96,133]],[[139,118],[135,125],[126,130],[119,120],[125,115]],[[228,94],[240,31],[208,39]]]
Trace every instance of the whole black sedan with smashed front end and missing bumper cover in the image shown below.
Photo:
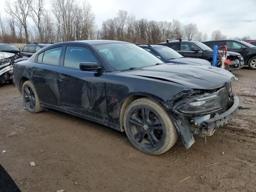
[[[125,131],[147,154],[194,134],[210,136],[236,116],[234,75],[212,66],[165,64],[134,44],[88,40],[52,44],[14,64],[27,109],[52,108]]]

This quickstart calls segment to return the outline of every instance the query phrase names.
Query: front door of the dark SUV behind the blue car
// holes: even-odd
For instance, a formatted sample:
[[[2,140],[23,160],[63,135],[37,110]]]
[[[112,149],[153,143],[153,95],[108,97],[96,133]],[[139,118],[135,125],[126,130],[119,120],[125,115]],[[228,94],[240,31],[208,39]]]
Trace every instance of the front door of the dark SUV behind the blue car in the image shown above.
[[[192,58],[203,57],[202,51],[194,44],[190,42],[180,42],[180,45],[181,45],[181,50],[178,52],[182,54],[184,57],[192,57]],[[198,52],[192,51],[191,50],[192,48],[197,48],[199,51]]]

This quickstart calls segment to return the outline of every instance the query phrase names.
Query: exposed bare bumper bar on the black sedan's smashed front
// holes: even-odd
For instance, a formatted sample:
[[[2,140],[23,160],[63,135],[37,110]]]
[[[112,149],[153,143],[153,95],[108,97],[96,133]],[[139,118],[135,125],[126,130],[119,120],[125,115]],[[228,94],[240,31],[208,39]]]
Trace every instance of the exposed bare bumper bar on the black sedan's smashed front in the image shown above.
[[[227,124],[228,122],[230,122],[230,120],[236,117],[238,110],[239,98],[237,96],[234,96],[233,106],[229,110],[202,123],[204,126],[204,130],[206,130],[206,132],[210,132],[216,128]]]

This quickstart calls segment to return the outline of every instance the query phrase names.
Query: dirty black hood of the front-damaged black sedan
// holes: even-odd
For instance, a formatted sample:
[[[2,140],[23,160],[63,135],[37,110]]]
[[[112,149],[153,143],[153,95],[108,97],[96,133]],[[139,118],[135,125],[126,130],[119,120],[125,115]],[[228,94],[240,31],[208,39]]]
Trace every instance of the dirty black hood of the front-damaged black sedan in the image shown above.
[[[214,89],[234,79],[227,70],[213,66],[190,64],[160,64],[123,72],[158,80],[175,82],[192,89]]]

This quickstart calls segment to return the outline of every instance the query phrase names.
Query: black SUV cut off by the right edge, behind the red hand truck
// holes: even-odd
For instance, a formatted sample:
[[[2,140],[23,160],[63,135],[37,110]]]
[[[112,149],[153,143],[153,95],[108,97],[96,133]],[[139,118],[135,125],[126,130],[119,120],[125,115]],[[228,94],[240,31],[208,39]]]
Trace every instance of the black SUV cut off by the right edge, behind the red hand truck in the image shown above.
[[[256,70],[256,46],[244,41],[238,40],[218,40],[218,41],[206,41],[203,42],[209,47],[214,45],[228,47],[228,51],[234,51],[240,53],[244,58],[245,66]]]

